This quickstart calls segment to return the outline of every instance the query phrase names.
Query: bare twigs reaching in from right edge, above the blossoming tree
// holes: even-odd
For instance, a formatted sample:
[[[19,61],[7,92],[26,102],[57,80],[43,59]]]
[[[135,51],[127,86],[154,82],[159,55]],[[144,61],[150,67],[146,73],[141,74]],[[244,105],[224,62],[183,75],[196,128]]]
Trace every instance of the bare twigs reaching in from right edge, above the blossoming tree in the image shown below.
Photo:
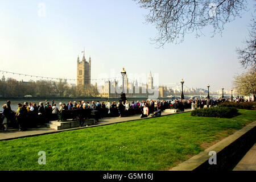
[[[237,48],[237,55],[240,63],[244,68],[256,67],[256,22],[255,17],[252,19],[252,23],[250,24],[251,30],[249,31],[249,39],[245,40],[246,47],[245,48]]]

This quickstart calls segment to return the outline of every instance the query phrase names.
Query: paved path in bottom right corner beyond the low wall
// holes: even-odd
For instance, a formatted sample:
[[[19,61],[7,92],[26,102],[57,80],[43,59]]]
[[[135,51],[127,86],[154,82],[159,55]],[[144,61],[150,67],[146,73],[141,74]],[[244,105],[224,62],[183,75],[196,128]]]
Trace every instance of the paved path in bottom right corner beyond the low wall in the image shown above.
[[[243,156],[233,171],[256,171],[256,143]]]

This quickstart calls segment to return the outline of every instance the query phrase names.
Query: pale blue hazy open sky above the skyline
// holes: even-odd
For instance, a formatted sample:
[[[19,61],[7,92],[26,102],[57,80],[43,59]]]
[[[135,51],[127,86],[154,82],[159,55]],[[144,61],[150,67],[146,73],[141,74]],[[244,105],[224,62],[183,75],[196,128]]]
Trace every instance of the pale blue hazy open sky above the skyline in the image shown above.
[[[225,24],[222,35],[211,38],[207,27],[205,36],[188,34],[181,44],[156,48],[150,38],[157,30],[132,0],[0,0],[0,70],[76,78],[77,56],[81,60],[85,48],[92,78],[121,76],[124,67],[128,77],[151,71],[159,85],[183,78],[187,88],[232,89],[233,77],[245,71],[236,48],[244,47],[253,5],[249,1],[242,18]]]

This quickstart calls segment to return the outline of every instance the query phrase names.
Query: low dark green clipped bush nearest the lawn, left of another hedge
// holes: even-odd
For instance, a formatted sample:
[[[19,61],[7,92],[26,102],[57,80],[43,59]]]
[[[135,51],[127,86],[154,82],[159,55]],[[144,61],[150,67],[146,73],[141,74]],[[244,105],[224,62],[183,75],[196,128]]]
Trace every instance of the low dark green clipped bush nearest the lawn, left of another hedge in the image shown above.
[[[232,118],[237,115],[235,107],[209,107],[191,111],[192,116]]]

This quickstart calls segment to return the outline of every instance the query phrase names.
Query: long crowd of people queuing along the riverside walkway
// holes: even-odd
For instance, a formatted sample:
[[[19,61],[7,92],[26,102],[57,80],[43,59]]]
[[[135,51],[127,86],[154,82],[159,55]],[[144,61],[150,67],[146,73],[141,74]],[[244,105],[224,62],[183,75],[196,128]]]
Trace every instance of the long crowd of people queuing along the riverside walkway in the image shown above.
[[[91,111],[97,111],[100,117],[123,117],[126,115],[141,114],[141,118],[148,117],[150,114],[152,117],[160,116],[162,111],[165,109],[174,109],[174,113],[179,111],[184,111],[185,109],[195,110],[204,107],[212,107],[218,105],[220,102],[245,102],[243,97],[233,98],[218,98],[218,99],[175,99],[175,100],[143,100],[139,101],[119,101],[116,103],[113,101],[100,102],[92,101],[92,103],[79,101],[72,102],[69,101],[66,105],[60,102],[59,108],[57,108],[56,103],[52,101],[52,105],[46,101],[46,105],[43,102],[39,102],[39,105],[35,103],[24,102],[23,104],[18,104],[16,111],[11,109],[11,101],[7,101],[7,104],[3,105],[1,122],[5,131],[8,130],[9,123],[16,123],[19,131],[25,131],[27,127],[37,127],[48,123],[49,121],[58,120],[61,121],[59,114],[63,113],[65,110],[75,110],[80,109],[75,118],[79,120],[80,126],[83,125],[85,119],[88,119],[86,111],[89,113]],[[81,114],[85,113],[85,114]],[[14,122],[15,121],[15,122]]]

